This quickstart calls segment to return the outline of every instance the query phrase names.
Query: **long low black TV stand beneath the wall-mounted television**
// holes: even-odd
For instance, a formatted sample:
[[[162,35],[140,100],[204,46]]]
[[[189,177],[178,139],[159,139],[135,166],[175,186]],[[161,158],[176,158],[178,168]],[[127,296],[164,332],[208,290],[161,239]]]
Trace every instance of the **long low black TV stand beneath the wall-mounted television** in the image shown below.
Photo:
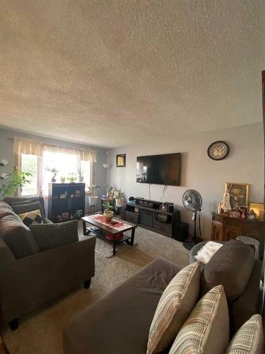
[[[165,212],[161,209],[126,203],[121,212],[121,217],[125,221],[132,222],[145,229],[177,239],[177,224],[180,222],[179,210]]]

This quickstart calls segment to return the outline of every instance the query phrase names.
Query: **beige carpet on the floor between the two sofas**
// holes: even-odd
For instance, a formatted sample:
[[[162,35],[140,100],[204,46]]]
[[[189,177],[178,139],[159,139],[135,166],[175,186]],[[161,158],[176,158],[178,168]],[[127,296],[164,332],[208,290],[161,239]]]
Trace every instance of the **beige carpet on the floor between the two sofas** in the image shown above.
[[[4,341],[11,354],[63,353],[62,331],[73,314],[100,299],[158,256],[183,266],[189,263],[189,251],[181,243],[141,227],[136,229],[134,246],[119,245],[116,256],[105,257],[107,250],[102,252],[102,249],[108,244],[101,240],[97,242],[95,277],[90,289],[81,287],[60,297],[24,318],[17,331],[4,330]]]

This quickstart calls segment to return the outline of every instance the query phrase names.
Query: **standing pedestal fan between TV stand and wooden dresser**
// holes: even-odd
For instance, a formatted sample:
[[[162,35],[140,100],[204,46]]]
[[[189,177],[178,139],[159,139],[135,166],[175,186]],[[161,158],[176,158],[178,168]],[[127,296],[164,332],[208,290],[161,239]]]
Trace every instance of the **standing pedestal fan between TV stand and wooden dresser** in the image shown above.
[[[201,241],[201,205],[202,205],[202,198],[199,192],[194,189],[188,189],[184,192],[182,196],[182,203],[184,207],[192,212],[192,220],[194,220],[194,233],[192,239],[187,239],[184,241],[183,246],[186,249],[192,249],[194,244],[198,244]],[[197,213],[199,212],[199,236],[197,237]]]

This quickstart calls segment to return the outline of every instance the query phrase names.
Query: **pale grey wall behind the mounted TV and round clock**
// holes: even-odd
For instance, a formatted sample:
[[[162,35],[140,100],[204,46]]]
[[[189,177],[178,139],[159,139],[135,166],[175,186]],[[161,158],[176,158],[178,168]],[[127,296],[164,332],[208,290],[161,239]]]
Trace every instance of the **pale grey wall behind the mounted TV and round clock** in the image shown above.
[[[166,129],[164,134],[166,135]],[[146,132],[148,135],[148,132]],[[263,125],[242,125],[223,130],[185,135],[175,140],[154,141],[153,144],[138,144],[108,150],[110,185],[122,188],[126,197],[160,200],[163,185],[136,183],[136,156],[151,154],[182,153],[181,185],[168,186],[163,201],[174,202],[181,211],[181,219],[189,223],[193,232],[192,213],[184,210],[182,195],[185,190],[198,190],[203,198],[201,212],[202,236],[211,237],[211,212],[223,198],[225,182],[249,183],[249,200],[263,202],[264,195],[264,142]],[[223,161],[213,161],[207,156],[211,142],[225,140],[230,145],[230,154]],[[116,154],[126,154],[126,167],[116,167]]]

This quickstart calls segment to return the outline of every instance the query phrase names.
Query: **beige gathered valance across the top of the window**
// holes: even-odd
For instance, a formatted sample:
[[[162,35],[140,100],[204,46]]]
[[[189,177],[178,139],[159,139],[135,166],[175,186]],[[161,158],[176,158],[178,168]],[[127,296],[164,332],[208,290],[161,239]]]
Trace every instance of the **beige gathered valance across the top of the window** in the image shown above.
[[[24,139],[21,137],[14,138],[13,152],[14,154],[33,154],[42,156],[43,152],[62,152],[64,154],[77,155],[81,161],[96,162],[96,152],[87,149],[73,149],[70,147],[57,147],[44,142],[33,139]]]

